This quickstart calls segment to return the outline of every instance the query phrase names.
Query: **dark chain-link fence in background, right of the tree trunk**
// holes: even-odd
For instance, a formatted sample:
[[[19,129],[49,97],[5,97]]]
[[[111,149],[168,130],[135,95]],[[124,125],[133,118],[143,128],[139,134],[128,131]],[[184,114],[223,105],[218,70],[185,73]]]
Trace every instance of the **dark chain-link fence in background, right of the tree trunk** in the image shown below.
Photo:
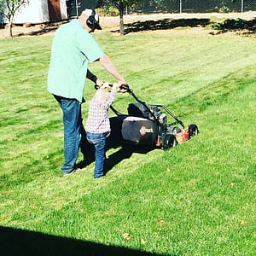
[[[212,13],[256,11],[256,0],[162,0],[139,1],[136,8],[128,12],[152,13]]]

